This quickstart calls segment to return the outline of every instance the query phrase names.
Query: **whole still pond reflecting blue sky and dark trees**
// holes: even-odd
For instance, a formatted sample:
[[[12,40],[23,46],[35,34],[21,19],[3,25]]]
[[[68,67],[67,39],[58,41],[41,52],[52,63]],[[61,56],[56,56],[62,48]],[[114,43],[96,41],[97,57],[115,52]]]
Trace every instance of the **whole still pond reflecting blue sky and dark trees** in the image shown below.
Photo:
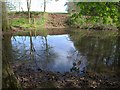
[[[4,46],[7,55],[12,58],[12,65],[24,64],[36,71],[79,71],[80,74],[91,71],[120,75],[120,37],[111,33],[13,34],[10,40],[8,35],[4,35],[4,40],[5,36],[7,38]]]

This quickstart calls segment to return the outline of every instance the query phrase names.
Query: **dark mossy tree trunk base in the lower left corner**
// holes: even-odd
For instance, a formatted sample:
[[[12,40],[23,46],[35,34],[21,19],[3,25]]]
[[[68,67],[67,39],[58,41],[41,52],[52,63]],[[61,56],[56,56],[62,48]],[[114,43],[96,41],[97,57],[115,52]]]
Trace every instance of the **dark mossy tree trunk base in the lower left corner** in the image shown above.
[[[2,40],[2,88],[21,88],[10,65],[12,60],[11,35],[4,35]]]

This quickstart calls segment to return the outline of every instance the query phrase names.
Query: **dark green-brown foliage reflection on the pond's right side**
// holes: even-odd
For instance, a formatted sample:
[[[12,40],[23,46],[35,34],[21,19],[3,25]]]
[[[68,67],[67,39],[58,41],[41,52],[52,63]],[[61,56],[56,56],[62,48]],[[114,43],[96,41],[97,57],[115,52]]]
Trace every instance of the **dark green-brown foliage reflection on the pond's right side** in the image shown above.
[[[111,32],[108,32],[110,35]],[[120,67],[120,38],[119,36],[80,36],[79,33],[70,34],[81,54],[87,56],[89,70],[98,73],[119,72]],[[113,69],[114,68],[114,69]]]

